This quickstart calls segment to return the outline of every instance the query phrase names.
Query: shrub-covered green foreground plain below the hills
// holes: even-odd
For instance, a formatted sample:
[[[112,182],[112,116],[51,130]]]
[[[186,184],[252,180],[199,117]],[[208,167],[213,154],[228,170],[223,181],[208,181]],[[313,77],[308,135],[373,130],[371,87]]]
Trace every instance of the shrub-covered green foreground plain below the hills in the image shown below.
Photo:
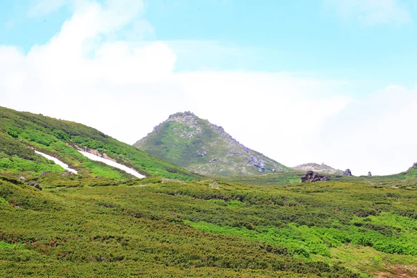
[[[104,186],[52,173],[42,191],[3,177],[0,277],[416,277],[416,176]]]

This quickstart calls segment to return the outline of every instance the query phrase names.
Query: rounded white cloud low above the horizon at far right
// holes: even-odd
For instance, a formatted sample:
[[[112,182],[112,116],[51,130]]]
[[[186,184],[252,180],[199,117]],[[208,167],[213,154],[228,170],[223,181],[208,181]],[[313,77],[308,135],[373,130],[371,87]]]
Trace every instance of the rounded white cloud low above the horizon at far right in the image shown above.
[[[417,89],[391,85],[327,119],[311,137],[314,156],[353,174],[395,174],[417,161]]]

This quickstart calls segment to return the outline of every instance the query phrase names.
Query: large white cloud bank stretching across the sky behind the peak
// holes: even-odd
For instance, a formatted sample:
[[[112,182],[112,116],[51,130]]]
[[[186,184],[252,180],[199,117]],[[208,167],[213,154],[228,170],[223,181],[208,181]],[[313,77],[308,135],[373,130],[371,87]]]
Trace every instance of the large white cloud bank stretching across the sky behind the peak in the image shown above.
[[[300,74],[175,73],[172,42],[115,39],[132,28],[153,32],[142,15],[141,1],[84,2],[28,54],[0,46],[1,106],[88,124],[129,143],[190,110],[290,166],[316,161],[383,174],[417,158],[407,126],[416,91],[390,87],[358,100],[341,93],[345,82]]]

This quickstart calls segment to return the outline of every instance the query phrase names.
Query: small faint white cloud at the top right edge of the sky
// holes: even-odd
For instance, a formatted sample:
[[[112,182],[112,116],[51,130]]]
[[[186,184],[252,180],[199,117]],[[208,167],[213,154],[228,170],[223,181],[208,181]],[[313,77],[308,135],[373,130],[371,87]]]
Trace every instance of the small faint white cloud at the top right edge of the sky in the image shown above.
[[[362,24],[405,24],[411,16],[399,0],[324,0],[327,8],[342,17],[353,17]]]

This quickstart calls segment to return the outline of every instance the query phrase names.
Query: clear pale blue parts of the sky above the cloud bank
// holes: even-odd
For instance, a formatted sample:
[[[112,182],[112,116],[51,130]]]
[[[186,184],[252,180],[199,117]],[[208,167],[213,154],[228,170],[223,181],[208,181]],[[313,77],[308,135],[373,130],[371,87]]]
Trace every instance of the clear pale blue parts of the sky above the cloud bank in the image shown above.
[[[155,28],[145,39],[210,41],[227,49],[195,49],[197,59],[179,51],[177,71],[306,72],[367,82],[366,88],[389,83],[412,87],[417,10],[411,0],[397,2],[411,20],[394,17],[366,24],[322,0],[145,1],[145,17]],[[72,15],[71,6],[31,15],[35,5],[31,0],[0,3],[1,44],[28,51],[46,43]]]

